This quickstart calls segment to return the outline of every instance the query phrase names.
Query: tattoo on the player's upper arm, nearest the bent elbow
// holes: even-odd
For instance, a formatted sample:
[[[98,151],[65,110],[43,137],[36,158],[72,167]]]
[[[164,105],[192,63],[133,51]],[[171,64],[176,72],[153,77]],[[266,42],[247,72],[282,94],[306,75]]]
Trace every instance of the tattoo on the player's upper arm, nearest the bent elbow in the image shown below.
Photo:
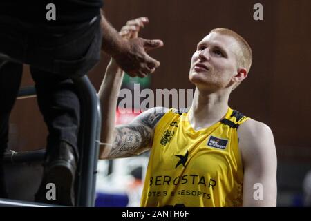
[[[144,125],[135,124],[115,128],[117,135],[109,157],[130,157],[146,150],[151,143],[151,132]]]

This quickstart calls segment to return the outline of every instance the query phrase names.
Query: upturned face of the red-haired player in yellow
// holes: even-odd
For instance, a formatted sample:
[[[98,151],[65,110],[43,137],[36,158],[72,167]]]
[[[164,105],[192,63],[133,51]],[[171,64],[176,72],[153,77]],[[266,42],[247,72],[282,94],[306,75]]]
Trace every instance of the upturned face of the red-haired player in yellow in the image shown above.
[[[189,79],[198,88],[218,90],[232,85],[238,71],[238,44],[233,37],[212,32],[198,43],[191,58]]]

